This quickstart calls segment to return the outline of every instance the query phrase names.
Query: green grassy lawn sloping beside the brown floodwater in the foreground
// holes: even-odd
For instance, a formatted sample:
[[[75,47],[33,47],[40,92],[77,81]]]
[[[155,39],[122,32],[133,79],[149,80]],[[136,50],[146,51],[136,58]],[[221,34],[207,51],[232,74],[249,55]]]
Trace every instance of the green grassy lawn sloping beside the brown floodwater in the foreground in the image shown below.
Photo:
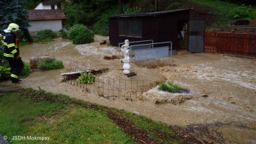
[[[110,112],[131,124],[132,129],[135,127],[138,132],[150,135],[148,139],[156,143],[179,143],[176,132],[163,123],[69,96],[32,89],[0,95],[0,133],[8,137],[9,143],[145,142],[137,137],[137,131],[127,131],[127,123],[119,125],[112,120]],[[48,140],[28,140],[27,136]]]

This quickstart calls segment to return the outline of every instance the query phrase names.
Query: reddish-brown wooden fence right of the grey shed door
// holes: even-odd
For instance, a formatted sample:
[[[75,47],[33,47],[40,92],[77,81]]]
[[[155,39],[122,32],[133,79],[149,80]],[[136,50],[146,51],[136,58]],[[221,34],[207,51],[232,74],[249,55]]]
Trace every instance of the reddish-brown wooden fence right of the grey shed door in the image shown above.
[[[256,34],[206,31],[204,52],[256,57]]]

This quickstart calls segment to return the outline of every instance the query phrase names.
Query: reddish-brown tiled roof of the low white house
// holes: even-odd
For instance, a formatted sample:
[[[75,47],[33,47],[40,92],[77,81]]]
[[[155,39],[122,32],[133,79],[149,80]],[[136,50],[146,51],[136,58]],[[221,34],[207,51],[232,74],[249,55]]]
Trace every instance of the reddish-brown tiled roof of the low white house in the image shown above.
[[[28,11],[30,21],[67,19],[61,9],[30,9]]]

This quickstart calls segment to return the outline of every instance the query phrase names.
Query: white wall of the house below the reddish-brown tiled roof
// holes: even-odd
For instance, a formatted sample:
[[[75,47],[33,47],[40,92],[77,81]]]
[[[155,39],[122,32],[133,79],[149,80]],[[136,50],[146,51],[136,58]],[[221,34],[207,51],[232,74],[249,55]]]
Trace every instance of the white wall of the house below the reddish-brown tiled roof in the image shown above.
[[[28,30],[30,32],[38,32],[40,30],[52,30],[54,32],[59,32],[62,29],[61,20],[51,20],[51,21],[32,21],[29,22],[30,27]]]

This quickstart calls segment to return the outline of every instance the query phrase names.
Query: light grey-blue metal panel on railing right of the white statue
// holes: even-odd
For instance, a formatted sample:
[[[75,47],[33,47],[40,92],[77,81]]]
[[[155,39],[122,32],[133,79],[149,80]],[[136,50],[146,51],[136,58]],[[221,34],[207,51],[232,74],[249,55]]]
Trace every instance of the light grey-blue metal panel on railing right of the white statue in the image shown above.
[[[134,50],[135,61],[168,57],[168,54],[169,54],[168,50],[169,50],[168,46],[154,48],[154,49]]]

